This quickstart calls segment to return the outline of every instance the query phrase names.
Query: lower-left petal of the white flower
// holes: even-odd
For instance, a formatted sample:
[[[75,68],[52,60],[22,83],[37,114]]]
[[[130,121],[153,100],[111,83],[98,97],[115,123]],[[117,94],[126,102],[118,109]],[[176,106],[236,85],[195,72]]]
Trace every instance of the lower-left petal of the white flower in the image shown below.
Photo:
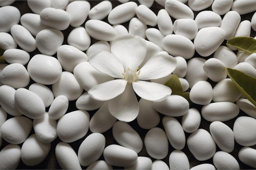
[[[127,81],[124,79],[114,79],[94,86],[88,91],[88,94],[96,100],[110,100],[123,93],[126,84]]]

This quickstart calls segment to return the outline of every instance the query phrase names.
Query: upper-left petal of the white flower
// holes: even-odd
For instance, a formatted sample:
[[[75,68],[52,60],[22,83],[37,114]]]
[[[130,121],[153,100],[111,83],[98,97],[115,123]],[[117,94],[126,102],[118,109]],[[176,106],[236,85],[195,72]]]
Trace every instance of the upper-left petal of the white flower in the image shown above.
[[[122,79],[124,76],[124,67],[118,58],[108,51],[101,51],[89,58],[89,63],[102,73],[112,77]]]

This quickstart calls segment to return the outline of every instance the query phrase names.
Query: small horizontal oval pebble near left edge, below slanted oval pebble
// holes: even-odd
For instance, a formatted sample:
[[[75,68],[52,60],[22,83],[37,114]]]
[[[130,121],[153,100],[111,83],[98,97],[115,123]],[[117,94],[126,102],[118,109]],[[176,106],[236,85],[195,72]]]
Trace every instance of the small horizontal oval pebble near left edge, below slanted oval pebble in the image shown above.
[[[9,64],[20,63],[25,65],[30,60],[30,55],[27,51],[21,49],[7,49],[3,53],[4,60]]]

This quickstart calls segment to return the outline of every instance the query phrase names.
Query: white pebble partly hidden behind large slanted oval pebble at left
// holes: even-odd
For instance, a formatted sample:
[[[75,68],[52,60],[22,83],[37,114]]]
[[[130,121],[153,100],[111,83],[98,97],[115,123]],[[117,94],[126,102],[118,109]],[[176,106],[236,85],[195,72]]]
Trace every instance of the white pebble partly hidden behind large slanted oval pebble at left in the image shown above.
[[[52,104],[52,101],[54,100],[54,95],[47,86],[39,83],[34,83],[29,86],[29,91],[32,91],[36,93],[44,102],[45,107],[47,108]]]

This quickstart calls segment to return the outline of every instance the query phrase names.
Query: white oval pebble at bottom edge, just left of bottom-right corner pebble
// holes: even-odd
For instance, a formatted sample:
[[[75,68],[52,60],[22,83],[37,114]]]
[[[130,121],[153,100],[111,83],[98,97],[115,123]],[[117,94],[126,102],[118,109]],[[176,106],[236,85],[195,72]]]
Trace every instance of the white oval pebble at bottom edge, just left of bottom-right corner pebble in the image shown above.
[[[224,151],[218,151],[213,155],[213,164],[218,170],[240,169],[238,161],[232,155]]]

